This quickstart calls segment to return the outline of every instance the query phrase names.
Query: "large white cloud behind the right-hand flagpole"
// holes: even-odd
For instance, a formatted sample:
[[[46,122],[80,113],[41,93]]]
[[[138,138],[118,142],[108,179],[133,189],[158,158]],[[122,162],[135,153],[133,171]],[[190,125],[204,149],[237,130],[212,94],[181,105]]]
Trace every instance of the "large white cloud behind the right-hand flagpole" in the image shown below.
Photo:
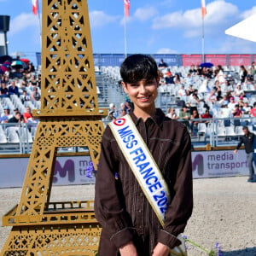
[[[238,8],[232,3],[226,3],[224,0],[217,0],[207,4],[207,15],[205,24],[218,26],[225,20],[238,14]],[[183,28],[193,29],[201,27],[201,8],[189,9],[185,12],[177,11],[167,15],[162,15],[154,19],[154,29],[162,28]],[[188,32],[189,34],[189,32]],[[192,35],[195,32],[191,33]]]

